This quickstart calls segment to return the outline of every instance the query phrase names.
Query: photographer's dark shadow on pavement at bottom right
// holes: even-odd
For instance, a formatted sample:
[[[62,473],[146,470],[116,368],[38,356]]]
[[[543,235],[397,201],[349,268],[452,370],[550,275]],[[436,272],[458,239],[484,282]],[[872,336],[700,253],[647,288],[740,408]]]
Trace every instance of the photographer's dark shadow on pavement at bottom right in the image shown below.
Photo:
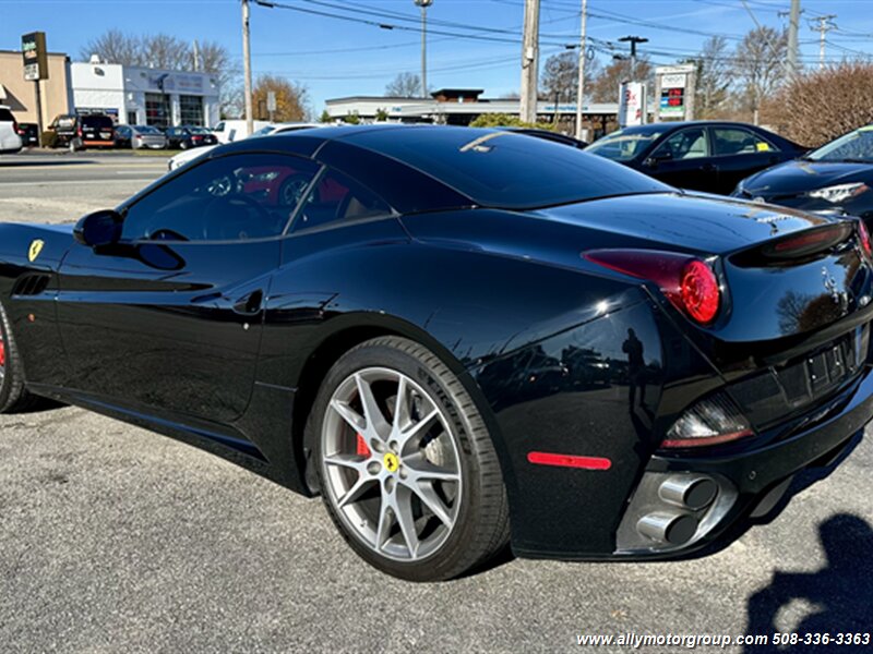
[[[796,645],[748,645],[744,652],[808,652],[805,634],[869,633],[873,625],[873,530],[870,524],[849,513],[838,513],[818,526],[826,562],[815,572],[776,571],[769,585],[749,600],[749,634],[773,634],[790,628],[798,633]],[[790,544],[786,544],[789,547]],[[779,610],[794,601],[811,606],[797,625],[777,626]],[[870,641],[869,641],[870,642]],[[834,642],[830,646],[835,646]],[[822,651],[828,650],[818,644]],[[840,651],[844,647],[836,647]],[[858,647],[860,649],[860,647]],[[849,646],[846,651],[856,650]]]

